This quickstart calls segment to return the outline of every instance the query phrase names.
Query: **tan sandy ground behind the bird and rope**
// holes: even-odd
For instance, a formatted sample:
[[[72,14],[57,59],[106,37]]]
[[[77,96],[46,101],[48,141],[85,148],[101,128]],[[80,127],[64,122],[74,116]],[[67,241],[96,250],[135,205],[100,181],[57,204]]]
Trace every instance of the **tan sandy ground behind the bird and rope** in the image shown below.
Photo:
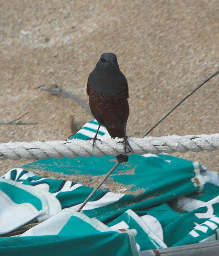
[[[218,0],[0,2],[0,143],[65,140],[70,115],[91,120],[72,99],[36,87],[57,83],[88,104],[89,73],[114,52],[130,88],[128,135],[142,136],[219,69]],[[219,132],[219,76],[165,119],[152,136]],[[175,154],[219,172],[218,151]],[[28,161],[1,161],[0,174]]]

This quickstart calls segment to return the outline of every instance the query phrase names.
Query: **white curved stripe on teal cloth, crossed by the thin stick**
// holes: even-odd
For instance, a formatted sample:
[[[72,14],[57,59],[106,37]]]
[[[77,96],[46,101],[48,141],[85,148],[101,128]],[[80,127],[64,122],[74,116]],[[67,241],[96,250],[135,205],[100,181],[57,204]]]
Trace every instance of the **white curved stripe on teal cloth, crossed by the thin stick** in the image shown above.
[[[95,208],[100,208],[103,206],[107,206],[108,204],[115,203],[119,199],[121,199],[124,195],[125,194],[116,194],[116,193],[108,192],[103,197],[101,197],[99,200],[87,202],[87,204],[83,208],[83,211],[84,210],[93,210]],[[70,208],[78,209],[81,205],[82,205],[82,203],[72,206]]]

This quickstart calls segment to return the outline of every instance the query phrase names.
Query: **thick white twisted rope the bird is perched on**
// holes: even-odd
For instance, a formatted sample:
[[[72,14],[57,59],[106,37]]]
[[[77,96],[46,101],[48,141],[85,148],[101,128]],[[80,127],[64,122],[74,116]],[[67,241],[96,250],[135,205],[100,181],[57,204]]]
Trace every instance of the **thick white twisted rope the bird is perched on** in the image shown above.
[[[47,141],[47,142],[9,142],[0,144],[0,160],[20,158],[26,159],[46,159],[53,158],[74,158],[77,156],[90,157],[95,155],[116,156],[124,154],[124,145],[117,143],[121,139],[106,139],[100,143],[98,140],[92,150],[93,140],[67,140],[67,141]],[[132,154],[159,154],[187,151],[200,152],[202,150],[214,151],[219,149],[219,133],[207,135],[187,135],[187,136],[164,136],[160,138],[128,138]]]

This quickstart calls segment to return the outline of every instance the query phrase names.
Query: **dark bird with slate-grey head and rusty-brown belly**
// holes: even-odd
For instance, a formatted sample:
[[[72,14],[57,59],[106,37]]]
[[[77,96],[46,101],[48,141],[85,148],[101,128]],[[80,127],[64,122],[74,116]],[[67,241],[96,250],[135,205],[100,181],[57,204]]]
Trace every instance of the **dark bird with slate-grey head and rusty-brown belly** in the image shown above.
[[[87,94],[93,117],[99,123],[96,135],[89,138],[93,140],[93,146],[96,140],[100,140],[97,139],[97,133],[103,125],[111,138],[123,138],[119,143],[124,143],[124,155],[120,154],[116,158],[119,163],[127,162],[127,145],[131,150],[126,134],[129,116],[128,82],[120,71],[116,54],[101,54],[96,67],[89,74]]]

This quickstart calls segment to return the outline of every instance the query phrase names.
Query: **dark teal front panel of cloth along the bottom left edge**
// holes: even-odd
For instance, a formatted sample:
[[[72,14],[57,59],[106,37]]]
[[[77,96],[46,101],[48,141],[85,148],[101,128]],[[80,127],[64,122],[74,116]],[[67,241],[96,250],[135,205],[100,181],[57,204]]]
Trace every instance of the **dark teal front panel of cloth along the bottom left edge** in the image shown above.
[[[102,232],[84,236],[28,236],[0,238],[1,256],[135,255],[128,234]]]

